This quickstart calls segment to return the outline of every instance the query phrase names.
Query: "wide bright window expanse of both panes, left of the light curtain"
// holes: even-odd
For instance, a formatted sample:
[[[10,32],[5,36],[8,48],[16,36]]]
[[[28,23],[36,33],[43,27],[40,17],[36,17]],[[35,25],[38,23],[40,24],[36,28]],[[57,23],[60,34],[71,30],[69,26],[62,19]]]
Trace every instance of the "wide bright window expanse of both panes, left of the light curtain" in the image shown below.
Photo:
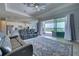
[[[57,35],[64,36],[65,32],[65,20],[66,17],[52,19],[44,22],[44,32],[45,33],[57,33]]]

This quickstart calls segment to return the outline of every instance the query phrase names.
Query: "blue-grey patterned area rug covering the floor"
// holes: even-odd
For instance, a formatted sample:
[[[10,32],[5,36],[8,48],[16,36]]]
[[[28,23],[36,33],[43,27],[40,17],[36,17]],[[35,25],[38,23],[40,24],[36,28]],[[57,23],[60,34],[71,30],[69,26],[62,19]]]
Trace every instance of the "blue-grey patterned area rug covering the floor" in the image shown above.
[[[33,45],[33,53],[37,56],[70,56],[72,45],[61,43],[45,37],[24,40],[26,44]]]

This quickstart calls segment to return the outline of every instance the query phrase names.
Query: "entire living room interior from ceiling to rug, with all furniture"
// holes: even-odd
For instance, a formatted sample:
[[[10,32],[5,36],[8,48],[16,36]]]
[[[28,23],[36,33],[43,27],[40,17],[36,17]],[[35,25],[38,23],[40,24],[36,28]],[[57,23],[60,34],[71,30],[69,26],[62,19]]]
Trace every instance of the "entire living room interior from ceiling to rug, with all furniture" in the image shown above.
[[[0,43],[2,55],[79,55],[78,6],[73,3],[1,3],[0,37],[5,34],[7,39]]]

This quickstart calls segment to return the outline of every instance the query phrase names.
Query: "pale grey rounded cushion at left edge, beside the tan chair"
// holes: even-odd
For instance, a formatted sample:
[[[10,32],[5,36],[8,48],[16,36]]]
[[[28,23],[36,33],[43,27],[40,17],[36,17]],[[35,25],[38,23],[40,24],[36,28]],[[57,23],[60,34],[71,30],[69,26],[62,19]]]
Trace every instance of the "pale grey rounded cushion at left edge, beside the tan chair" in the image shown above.
[[[0,55],[5,55],[12,51],[10,39],[2,32],[0,32]]]

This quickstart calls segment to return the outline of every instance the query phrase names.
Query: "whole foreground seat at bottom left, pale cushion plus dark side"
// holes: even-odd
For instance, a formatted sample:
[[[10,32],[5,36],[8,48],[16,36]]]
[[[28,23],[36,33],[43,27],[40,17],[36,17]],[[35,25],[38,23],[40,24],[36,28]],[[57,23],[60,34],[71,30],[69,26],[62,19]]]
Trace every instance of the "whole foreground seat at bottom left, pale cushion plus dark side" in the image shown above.
[[[33,47],[31,44],[21,46],[12,51],[10,39],[0,32],[0,56],[32,56]]]

